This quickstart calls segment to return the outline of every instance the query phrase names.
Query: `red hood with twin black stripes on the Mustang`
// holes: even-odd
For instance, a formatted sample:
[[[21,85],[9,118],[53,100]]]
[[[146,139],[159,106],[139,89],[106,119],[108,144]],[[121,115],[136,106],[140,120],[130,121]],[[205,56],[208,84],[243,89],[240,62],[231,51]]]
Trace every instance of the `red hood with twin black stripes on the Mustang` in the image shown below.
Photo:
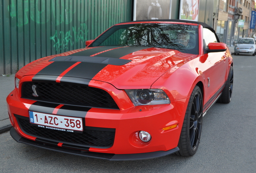
[[[144,89],[192,56],[196,55],[166,48],[102,46],[41,58],[18,75],[87,78],[108,82],[118,89]]]

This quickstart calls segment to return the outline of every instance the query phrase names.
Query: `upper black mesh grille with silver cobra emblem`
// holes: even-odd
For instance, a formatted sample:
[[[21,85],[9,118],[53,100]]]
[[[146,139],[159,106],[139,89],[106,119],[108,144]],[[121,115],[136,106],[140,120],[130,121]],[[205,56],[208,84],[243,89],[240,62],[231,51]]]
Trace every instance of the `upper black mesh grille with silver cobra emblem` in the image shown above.
[[[36,86],[38,97],[33,96],[33,85]],[[106,91],[74,83],[24,82],[21,97],[64,105],[119,109]]]

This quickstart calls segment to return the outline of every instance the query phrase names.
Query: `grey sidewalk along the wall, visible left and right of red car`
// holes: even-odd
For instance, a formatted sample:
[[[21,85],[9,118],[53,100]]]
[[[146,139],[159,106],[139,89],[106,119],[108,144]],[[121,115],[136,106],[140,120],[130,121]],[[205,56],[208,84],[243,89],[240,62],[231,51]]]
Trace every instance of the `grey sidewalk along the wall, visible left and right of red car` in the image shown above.
[[[234,53],[233,46],[230,46],[229,50],[231,54]],[[9,131],[12,127],[6,106],[6,97],[14,89],[14,77],[15,74],[10,74],[9,76],[0,75],[0,134]]]

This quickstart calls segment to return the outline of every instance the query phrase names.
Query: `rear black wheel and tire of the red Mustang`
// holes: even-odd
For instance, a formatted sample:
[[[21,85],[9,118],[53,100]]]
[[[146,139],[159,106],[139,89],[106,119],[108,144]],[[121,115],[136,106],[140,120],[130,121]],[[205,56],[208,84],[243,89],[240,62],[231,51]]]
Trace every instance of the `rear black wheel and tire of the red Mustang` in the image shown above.
[[[233,78],[234,78],[234,72],[233,72],[233,67],[231,66],[225,87],[222,91],[221,97],[219,98],[220,103],[229,103],[231,101],[232,92],[233,92]]]

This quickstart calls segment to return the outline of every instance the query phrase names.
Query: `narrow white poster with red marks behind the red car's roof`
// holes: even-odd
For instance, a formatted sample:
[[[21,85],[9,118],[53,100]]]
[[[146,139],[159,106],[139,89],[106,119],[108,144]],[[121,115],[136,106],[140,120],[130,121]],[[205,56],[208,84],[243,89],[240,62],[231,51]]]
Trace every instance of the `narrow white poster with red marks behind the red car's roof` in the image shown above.
[[[180,0],[180,19],[198,21],[199,0]]]

